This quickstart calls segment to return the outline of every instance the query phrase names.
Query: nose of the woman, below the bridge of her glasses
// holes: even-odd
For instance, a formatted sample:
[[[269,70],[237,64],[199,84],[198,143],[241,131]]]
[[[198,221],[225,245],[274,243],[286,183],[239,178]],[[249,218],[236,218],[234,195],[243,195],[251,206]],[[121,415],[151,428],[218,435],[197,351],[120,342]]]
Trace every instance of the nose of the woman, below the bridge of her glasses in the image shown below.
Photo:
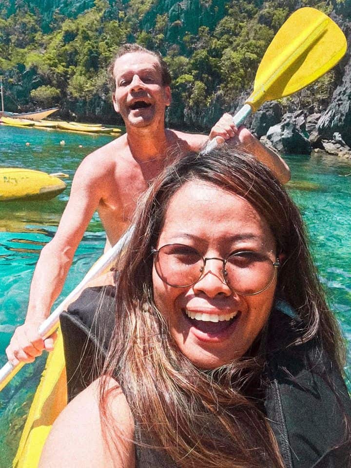
[[[209,297],[215,297],[217,294],[229,296],[232,293],[224,281],[223,263],[219,263],[218,260],[220,259],[206,260],[202,276],[193,286],[194,292],[204,292]]]

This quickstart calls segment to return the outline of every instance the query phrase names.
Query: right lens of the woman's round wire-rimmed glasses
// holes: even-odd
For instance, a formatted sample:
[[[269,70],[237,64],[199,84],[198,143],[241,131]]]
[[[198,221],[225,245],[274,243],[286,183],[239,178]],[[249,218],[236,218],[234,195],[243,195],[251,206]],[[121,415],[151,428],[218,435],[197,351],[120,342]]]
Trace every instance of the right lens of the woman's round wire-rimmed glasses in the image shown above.
[[[228,286],[242,294],[255,294],[265,290],[275,274],[270,258],[257,252],[237,252],[230,255],[225,271]]]

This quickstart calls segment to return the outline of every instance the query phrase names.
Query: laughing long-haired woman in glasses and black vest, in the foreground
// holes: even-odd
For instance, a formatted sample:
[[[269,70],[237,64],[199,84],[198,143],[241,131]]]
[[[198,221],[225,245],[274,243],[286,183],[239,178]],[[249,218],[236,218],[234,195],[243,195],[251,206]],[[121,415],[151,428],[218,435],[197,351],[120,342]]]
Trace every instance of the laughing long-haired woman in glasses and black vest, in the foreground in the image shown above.
[[[40,466],[349,467],[342,339],[272,173],[239,150],[185,156],[134,221],[104,375]]]

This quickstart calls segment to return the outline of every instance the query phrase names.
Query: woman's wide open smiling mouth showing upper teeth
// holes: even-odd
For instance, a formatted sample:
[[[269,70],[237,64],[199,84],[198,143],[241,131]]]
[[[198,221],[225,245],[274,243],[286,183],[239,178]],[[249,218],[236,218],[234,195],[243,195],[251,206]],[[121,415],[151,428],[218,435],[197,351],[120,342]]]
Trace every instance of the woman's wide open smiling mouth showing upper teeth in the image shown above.
[[[205,312],[190,312],[186,309],[183,309],[183,313],[192,327],[210,335],[208,336],[209,338],[211,338],[211,335],[213,338],[224,337],[222,336],[223,334],[230,333],[232,331],[230,329],[241,315],[240,311],[218,315]]]

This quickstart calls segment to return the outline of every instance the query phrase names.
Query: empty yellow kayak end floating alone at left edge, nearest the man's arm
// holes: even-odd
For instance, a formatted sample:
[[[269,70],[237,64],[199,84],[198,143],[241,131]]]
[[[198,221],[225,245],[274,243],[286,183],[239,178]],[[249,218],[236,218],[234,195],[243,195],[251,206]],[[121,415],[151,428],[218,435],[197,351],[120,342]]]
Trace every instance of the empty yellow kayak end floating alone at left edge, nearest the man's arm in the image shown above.
[[[13,167],[0,168],[0,201],[49,200],[66,184],[59,177],[41,171]]]

